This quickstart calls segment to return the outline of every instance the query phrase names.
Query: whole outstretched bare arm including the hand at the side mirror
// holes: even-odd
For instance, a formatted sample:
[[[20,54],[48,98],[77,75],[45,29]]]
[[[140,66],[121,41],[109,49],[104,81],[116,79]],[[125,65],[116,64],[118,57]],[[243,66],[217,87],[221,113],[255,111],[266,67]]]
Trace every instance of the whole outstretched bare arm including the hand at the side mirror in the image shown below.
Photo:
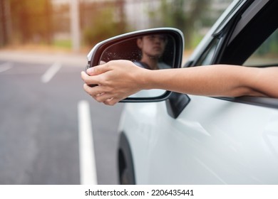
[[[143,89],[163,89],[191,95],[278,97],[278,68],[210,65],[195,68],[145,70],[117,60],[82,73],[84,89],[98,102],[115,104]],[[98,84],[97,87],[88,87]]]

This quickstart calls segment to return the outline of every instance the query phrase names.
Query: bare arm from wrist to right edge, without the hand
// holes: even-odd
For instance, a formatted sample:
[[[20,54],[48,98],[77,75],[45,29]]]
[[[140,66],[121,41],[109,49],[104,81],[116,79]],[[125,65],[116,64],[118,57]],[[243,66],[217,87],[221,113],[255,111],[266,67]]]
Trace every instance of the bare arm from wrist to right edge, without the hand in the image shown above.
[[[157,71],[153,71],[157,72]],[[276,72],[276,74],[275,74]],[[208,65],[160,70],[149,78],[161,89],[192,95],[278,97],[277,68],[246,68],[238,65]],[[273,77],[270,77],[273,75]],[[166,83],[167,82],[167,83]]]

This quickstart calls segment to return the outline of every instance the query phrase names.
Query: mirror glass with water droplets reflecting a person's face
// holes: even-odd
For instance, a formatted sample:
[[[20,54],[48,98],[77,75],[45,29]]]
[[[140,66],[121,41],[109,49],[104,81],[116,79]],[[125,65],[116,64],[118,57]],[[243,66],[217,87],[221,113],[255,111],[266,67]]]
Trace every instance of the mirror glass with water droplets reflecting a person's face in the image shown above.
[[[148,70],[174,68],[175,40],[168,34],[135,36],[110,45],[103,50],[100,63],[110,60],[130,60]],[[143,90],[130,97],[158,97],[165,90]]]

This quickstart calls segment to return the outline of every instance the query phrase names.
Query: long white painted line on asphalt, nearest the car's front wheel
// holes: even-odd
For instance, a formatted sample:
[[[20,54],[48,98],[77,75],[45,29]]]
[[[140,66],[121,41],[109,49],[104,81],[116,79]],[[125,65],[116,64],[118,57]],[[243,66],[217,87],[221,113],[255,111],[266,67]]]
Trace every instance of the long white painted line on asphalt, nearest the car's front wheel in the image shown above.
[[[80,182],[81,185],[97,185],[90,106],[86,100],[78,102],[78,123]]]

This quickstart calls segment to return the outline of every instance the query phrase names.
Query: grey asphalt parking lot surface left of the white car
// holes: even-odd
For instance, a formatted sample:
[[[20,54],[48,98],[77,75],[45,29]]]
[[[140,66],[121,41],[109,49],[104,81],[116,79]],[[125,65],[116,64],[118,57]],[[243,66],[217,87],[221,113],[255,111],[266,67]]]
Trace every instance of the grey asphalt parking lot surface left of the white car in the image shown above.
[[[94,171],[93,183],[118,183],[115,154],[123,104],[107,107],[83,91],[85,65],[86,55],[0,50],[0,184],[80,184],[81,173]],[[94,156],[84,157],[96,168],[89,164],[89,171],[81,166],[82,151],[90,149],[79,142],[81,102],[91,116]]]

